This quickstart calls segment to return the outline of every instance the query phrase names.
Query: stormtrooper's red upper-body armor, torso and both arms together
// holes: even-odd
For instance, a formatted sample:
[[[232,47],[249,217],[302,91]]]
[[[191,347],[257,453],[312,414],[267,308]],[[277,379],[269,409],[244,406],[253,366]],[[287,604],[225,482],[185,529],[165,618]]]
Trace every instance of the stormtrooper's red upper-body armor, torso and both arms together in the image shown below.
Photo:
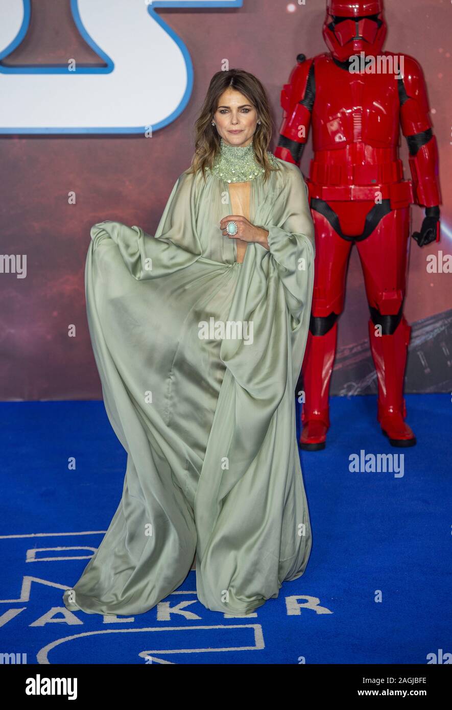
[[[281,92],[285,113],[275,155],[298,164],[299,147],[312,128],[310,197],[390,200],[391,209],[441,204],[438,148],[421,66],[392,52],[369,59],[358,55],[351,71],[330,54],[310,60],[299,55]],[[412,181],[404,179],[399,160],[401,133],[409,143]]]

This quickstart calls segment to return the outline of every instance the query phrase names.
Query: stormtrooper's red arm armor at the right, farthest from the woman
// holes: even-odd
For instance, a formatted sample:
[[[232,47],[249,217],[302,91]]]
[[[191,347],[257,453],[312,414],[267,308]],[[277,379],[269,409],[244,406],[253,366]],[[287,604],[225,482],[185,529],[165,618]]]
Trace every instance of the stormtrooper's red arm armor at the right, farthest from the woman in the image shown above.
[[[438,145],[432,133],[429,99],[421,65],[404,55],[404,77],[399,80],[400,123],[409,146],[414,199],[424,207],[441,204]]]

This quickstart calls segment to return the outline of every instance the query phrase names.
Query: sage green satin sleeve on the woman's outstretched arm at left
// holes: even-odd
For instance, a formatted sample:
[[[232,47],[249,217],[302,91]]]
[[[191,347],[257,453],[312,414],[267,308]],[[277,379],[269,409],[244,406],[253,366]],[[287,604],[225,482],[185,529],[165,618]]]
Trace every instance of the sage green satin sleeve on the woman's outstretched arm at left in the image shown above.
[[[159,278],[186,268],[202,255],[194,175],[182,173],[177,178],[155,235],[147,234],[140,226],[106,220],[92,226],[91,239],[93,250],[106,239],[114,241],[136,280]]]

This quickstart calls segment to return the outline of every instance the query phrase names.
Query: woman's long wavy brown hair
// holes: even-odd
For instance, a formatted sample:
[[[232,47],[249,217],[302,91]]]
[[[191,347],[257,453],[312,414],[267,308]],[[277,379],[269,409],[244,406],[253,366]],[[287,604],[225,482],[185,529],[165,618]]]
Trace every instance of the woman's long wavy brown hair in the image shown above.
[[[204,104],[194,124],[194,155],[186,172],[197,173],[198,170],[201,170],[205,180],[206,167],[212,167],[216,153],[220,150],[221,136],[211,122],[218,108],[221,94],[229,88],[236,89],[246,96],[258,113],[260,124],[256,126],[253,135],[253,147],[255,159],[265,169],[264,180],[267,180],[272,170],[279,170],[279,168],[272,166],[267,154],[272,136],[272,119],[270,118],[268,97],[260,81],[243,69],[216,72],[211,78]]]

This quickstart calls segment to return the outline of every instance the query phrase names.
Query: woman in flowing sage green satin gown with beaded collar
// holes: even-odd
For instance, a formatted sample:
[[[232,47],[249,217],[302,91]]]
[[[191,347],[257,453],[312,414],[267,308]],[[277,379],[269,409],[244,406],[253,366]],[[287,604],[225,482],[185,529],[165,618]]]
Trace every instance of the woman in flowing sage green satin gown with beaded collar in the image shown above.
[[[155,236],[92,227],[89,330],[128,459],[68,609],[148,611],[196,553],[199,601],[242,616],[309,558],[294,416],[314,277],[304,180],[267,151],[268,100],[248,72],[214,75],[196,129]]]

